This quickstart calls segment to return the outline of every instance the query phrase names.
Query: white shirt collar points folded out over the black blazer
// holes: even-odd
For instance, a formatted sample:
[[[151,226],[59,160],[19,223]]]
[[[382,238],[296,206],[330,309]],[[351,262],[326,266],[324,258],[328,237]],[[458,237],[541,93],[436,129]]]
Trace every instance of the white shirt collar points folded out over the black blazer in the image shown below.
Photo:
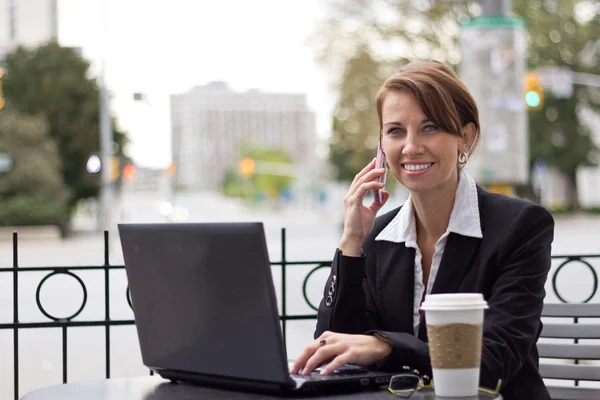
[[[407,247],[415,247],[417,241],[415,213],[412,198],[409,195],[394,219],[383,228],[375,240],[405,243]],[[461,170],[458,187],[454,198],[454,207],[450,214],[447,232],[481,239],[481,220],[479,217],[479,201],[477,185],[469,174]]]

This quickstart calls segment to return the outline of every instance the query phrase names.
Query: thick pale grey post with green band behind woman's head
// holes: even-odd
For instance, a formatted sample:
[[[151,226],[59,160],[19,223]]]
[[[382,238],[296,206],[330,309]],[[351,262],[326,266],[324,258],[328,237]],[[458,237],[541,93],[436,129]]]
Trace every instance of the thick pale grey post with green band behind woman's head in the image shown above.
[[[480,0],[480,17],[461,25],[460,76],[479,108],[482,142],[467,170],[485,186],[510,193],[529,181],[526,27],[510,0]],[[498,190],[498,189],[497,189]]]

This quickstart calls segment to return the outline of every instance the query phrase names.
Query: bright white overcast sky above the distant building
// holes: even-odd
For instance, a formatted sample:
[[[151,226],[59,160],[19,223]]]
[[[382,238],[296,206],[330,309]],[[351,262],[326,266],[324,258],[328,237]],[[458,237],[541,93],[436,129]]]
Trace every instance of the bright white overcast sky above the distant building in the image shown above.
[[[306,93],[317,134],[328,136],[333,94],[307,44],[322,13],[318,0],[59,0],[59,41],[81,47],[94,72],[105,55],[129,155],[164,167],[169,95],[213,80],[240,91]],[[134,102],[134,92],[148,102]]]

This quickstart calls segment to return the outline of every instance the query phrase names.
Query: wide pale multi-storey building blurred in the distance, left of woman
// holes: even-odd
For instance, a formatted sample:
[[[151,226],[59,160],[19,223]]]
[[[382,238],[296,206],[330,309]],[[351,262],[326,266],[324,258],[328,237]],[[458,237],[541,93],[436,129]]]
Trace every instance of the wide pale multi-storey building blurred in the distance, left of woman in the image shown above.
[[[286,150],[300,166],[316,159],[315,115],[304,94],[234,92],[224,82],[171,96],[175,185],[216,189],[237,168],[242,140]]]

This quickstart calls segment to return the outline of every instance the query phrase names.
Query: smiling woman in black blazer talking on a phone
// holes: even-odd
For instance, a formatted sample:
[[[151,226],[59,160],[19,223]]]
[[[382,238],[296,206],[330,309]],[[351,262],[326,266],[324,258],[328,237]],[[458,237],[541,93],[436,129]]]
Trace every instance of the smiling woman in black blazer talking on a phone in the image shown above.
[[[383,188],[375,160],[344,198],[344,233],[319,307],[316,340],[292,373],[344,363],[431,376],[425,294],[482,293],[480,384],[502,379],[505,399],[549,399],[536,341],[550,269],[554,221],[541,206],[492,194],[462,170],[479,142],[477,106],[465,85],[435,61],[409,64],[377,94],[381,146],[410,190],[404,205],[375,219],[363,205]],[[389,198],[384,193],[384,203]]]

